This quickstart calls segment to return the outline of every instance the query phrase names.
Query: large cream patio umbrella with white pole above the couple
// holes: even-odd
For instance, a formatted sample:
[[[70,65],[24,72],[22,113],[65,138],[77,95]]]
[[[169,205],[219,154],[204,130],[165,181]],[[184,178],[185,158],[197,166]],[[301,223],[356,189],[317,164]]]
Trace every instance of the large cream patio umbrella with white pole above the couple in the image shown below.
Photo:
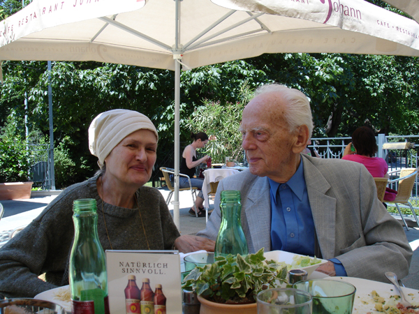
[[[180,63],[191,69],[274,52],[419,56],[419,24],[363,0],[213,2],[34,0],[0,25],[0,60],[99,61],[175,70],[177,226]]]

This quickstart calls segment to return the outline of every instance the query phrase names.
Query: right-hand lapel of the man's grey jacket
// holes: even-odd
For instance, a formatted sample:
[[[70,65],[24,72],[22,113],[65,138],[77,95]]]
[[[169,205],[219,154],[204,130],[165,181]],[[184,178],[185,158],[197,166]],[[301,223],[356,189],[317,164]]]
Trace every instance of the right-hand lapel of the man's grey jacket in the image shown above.
[[[323,259],[335,257],[336,199],[326,195],[330,184],[311,160],[302,157],[311,214]]]

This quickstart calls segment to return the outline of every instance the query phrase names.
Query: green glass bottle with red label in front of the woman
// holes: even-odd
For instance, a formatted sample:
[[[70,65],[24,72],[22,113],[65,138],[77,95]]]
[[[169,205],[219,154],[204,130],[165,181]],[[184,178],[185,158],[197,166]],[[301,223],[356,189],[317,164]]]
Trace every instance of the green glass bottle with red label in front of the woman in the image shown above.
[[[73,202],[74,241],[68,277],[71,313],[109,314],[105,252],[98,237],[96,200]]]

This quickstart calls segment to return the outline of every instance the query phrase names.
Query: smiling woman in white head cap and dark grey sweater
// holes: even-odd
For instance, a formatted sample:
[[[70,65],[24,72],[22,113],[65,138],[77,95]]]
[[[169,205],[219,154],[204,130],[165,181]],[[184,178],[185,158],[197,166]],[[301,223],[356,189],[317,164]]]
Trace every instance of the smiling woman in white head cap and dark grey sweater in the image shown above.
[[[172,249],[179,232],[166,202],[159,190],[144,186],[156,161],[158,140],[152,121],[143,114],[119,109],[99,114],[89,128],[89,148],[101,170],[66,188],[0,249],[0,294],[34,297],[68,285],[77,199],[96,200],[104,250]],[[46,281],[38,278],[44,273]]]

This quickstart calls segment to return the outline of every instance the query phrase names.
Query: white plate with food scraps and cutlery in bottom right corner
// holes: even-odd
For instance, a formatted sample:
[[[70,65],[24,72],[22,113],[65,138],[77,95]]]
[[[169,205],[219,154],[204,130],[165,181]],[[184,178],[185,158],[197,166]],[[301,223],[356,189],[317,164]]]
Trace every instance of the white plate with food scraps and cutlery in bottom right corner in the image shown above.
[[[352,314],[419,313],[419,308],[413,311],[397,306],[400,297],[392,284],[353,277],[328,277],[326,279],[346,281],[346,283],[355,285],[356,292]],[[413,306],[419,306],[419,290],[406,287],[402,287],[402,290],[407,301]]]

